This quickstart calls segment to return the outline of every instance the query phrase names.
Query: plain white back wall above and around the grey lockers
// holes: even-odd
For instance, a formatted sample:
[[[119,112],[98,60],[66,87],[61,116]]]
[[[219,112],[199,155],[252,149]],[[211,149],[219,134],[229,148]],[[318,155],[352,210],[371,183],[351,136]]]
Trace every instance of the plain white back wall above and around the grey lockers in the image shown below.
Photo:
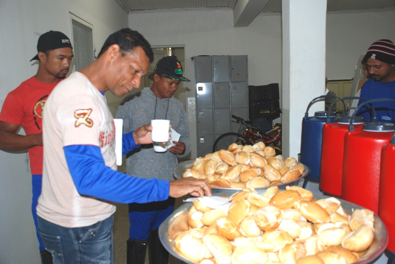
[[[394,25],[394,10],[327,14],[328,79],[353,78],[359,55],[366,52],[371,43],[380,38],[395,41]],[[186,72],[190,80],[195,80],[192,56],[248,55],[249,85],[279,83],[281,90],[281,15],[258,15],[250,26],[234,28],[231,10],[144,12],[130,14],[129,27],[138,30],[155,46],[185,45]],[[187,87],[192,157],[196,157],[194,82]]]

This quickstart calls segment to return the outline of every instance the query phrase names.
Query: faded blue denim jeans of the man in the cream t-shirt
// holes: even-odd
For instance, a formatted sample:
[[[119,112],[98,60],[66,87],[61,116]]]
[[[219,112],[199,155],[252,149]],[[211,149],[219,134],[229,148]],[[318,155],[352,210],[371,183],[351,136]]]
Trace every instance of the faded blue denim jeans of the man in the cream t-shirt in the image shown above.
[[[38,221],[53,264],[114,264],[114,216],[81,228],[64,228],[40,217]]]

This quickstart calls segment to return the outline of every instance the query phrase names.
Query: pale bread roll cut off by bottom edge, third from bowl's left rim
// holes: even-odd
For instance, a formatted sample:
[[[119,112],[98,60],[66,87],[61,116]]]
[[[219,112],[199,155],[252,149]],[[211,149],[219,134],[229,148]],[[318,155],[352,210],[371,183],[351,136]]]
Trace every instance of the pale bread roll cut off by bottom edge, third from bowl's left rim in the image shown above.
[[[238,246],[232,254],[232,264],[258,264],[268,261],[268,253],[255,245]]]

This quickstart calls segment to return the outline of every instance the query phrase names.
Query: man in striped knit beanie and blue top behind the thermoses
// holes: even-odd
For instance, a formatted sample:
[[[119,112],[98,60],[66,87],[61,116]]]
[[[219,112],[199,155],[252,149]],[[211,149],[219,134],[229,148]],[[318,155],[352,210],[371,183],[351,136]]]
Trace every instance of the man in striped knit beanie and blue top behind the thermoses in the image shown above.
[[[367,73],[371,77],[361,88],[361,98],[395,100],[395,45],[391,40],[380,39],[370,45],[362,61],[366,62]],[[362,101],[359,101],[359,104]],[[395,123],[395,102],[373,103],[376,122]],[[357,115],[370,121],[370,106],[362,106]]]

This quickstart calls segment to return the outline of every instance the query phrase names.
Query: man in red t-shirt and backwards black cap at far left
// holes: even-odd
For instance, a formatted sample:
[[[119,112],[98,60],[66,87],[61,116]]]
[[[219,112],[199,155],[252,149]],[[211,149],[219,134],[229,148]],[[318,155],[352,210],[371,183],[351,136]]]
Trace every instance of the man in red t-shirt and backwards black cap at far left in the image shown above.
[[[27,149],[29,153],[33,184],[32,213],[36,231],[36,206],[42,177],[42,112],[53,88],[66,78],[73,59],[73,48],[65,34],[49,31],[40,36],[37,51],[38,54],[30,60],[40,61],[37,74],[7,95],[0,113],[0,150]],[[16,133],[20,126],[26,135]],[[41,262],[52,263],[52,254],[45,250],[38,231],[37,237]]]

